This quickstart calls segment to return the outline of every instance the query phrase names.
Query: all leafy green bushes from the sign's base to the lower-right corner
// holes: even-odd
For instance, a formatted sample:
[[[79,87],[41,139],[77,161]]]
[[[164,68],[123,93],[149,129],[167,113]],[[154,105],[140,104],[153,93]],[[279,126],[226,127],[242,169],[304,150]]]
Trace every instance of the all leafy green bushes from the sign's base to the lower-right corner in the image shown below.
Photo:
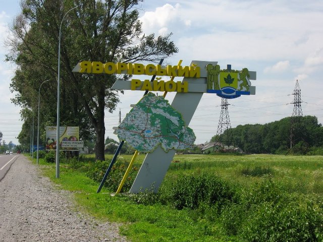
[[[100,182],[110,162],[96,161],[87,175]],[[128,162],[118,161],[104,186],[118,189]],[[124,185],[128,191],[133,183],[134,167]],[[272,170],[256,167],[243,171],[262,176]],[[218,222],[228,236],[239,241],[323,241],[323,203],[308,195],[289,193],[283,184],[266,176],[250,188],[241,188],[212,173],[184,173],[172,183],[161,186],[158,194],[142,191],[129,199],[137,204],[156,203],[176,209],[192,210],[194,216]],[[152,185],[153,186],[153,185]]]

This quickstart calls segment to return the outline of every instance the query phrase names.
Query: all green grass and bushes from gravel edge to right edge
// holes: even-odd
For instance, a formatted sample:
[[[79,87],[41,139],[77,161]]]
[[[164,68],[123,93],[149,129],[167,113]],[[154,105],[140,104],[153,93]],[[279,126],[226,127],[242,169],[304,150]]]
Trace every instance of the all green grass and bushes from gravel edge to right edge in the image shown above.
[[[323,241],[323,156],[176,155],[157,195],[114,197],[86,175],[93,157],[81,160],[63,160],[59,179],[55,164],[40,159],[40,168],[75,194],[77,209],[124,222],[130,241]]]

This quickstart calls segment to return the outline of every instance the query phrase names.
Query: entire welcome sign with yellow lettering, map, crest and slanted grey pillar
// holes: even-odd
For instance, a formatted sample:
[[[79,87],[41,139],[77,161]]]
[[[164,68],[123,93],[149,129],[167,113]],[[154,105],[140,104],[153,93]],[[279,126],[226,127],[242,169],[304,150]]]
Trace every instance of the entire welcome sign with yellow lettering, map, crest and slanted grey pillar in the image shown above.
[[[192,146],[194,132],[188,127],[203,93],[222,98],[254,95],[256,72],[247,68],[233,70],[231,65],[221,69],[218,62],[192,61],[189,66],[161,66],[155,64],[101,63],[84,61],[73,72],[88,74],[128,74],[157,76],[152,81],[143,78],[117,80],[112,89],[148,91],[123,122],[115,127],[115,134],[137,151],[148,152],[130,189],[130,193],[150,190],[157,192],[177,149]],[[174,81],[182,77],[182,81]],[[171,104],[152,91],[176,92]],[[164,95],[165,96],[165,95]],[[135,155],[134,155],[135,157]],[[119,189],[118,189],[119,190]]]

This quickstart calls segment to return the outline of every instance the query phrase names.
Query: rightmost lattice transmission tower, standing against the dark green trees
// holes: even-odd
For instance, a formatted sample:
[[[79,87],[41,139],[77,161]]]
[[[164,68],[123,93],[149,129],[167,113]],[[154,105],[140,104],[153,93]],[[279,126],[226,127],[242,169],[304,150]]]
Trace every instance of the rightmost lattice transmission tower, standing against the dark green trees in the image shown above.
[[[301,89],[299,87],[298,80],[296,80],[296,85],[292,95],[294,95],[294,101],[291,102],[291,104],[294,104],[294,110],[291,116],[289,153],[306,154],[309,145],[305,141],[307,132],[303,122],[301,106],[303,101],[301,99]]]

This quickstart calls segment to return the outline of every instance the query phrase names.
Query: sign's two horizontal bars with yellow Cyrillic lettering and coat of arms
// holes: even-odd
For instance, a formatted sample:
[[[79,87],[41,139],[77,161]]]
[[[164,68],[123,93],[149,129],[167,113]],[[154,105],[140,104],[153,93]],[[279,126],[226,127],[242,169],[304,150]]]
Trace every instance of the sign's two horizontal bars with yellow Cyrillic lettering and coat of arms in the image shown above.
[[[194,61],[200,63],[199,61]],[[251,86],[250,80],[256,79],[256,72],[250,72],[247,68],[241,71],[231,69],[227,65],[221,70],[219,65],[209,62],[205,67],[193,63],[190,66],[166,67],[155,64],[132,64],[132,63],[101,63],[84,61],[79,63],[73,72],[88,74],[127,74],[160,76],[152,82],[148,79],[131,81],[117,80],[112,89],[140,90],[140,91],[167,91],[167,92],[202,92],[215,93],[223,98],[237,98],[241,95],[254,95],[255,87]],[[207,63],[207,62],[206,62]],[[190,79],[206,78],[205,83],[167,80],[171,77],[184,77]]]

